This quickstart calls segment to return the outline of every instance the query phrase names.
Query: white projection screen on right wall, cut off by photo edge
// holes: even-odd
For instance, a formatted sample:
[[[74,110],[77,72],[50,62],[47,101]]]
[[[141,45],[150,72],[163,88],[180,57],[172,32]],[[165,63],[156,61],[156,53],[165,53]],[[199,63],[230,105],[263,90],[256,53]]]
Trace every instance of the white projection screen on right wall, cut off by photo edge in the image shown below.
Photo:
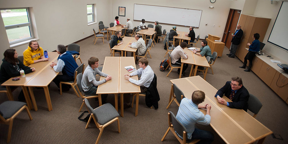
[[[288,34],[288,2],[282,2],[278,16],[268,38],[268,42],[275,46],[288,50],[287,34]]]

